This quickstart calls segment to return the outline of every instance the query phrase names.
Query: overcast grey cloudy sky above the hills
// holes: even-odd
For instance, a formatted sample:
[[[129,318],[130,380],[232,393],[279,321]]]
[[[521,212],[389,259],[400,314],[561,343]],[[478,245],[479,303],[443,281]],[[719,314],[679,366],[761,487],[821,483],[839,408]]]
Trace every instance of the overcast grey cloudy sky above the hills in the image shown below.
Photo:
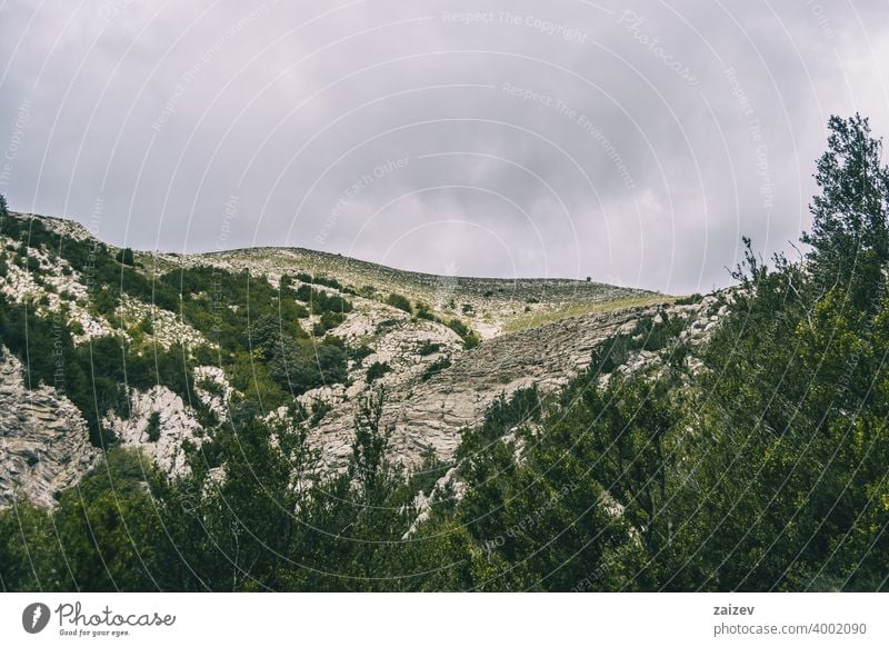
[[[0,0],[0,192],[140,249],[680,293],[889,135],[889,1]]]

